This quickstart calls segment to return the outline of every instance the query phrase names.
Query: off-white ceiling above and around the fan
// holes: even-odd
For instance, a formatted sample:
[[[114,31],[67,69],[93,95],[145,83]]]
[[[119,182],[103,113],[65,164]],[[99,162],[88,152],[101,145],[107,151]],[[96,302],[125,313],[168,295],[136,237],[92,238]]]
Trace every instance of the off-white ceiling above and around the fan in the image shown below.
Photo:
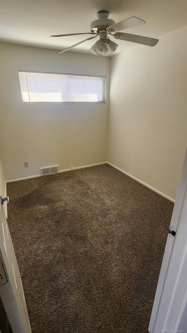
[[[131,16],[143,19],[146,24],[126,32],[152,38],[187,24],[187,0],[1,0],[0,4],[1,41],[60,51],[91,36],[55,38],[50,35],[90,32],[90,23],[97,19],[99,10],[109,11],[109,18],[115,22]],[[96,40],[87,41],[72,51],[91,54],[89,49]],[[117,43],[115,54],[137,45],[125,41]]]

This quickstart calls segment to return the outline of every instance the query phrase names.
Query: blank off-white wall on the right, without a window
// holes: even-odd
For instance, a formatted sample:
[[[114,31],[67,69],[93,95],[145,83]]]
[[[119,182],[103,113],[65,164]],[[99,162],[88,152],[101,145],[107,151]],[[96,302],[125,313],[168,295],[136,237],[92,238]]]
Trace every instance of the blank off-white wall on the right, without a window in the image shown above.
[[[186,37],[182,27],[111,59],[108,161],[171,198],[187,144]]]

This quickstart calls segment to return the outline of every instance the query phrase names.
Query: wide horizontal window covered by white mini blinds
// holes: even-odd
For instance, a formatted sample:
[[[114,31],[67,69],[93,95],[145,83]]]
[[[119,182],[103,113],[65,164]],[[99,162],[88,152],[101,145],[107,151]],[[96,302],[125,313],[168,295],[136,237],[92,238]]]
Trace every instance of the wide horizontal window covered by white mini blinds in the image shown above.
[[[106,103],[106,77],[19,71],[23,104]]]

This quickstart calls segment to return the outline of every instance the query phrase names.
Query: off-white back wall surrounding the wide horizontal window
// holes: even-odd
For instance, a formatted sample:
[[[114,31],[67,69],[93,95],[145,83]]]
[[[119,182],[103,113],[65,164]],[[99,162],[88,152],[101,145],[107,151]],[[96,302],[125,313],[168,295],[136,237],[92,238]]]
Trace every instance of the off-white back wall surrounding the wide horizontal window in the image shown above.
[[[18,70],[107,76],[107,103],[23,105]],[[107,161],[110,59],[1,43],[1,159],[6,180]],[[23,162],[28,161],[25,168]]]

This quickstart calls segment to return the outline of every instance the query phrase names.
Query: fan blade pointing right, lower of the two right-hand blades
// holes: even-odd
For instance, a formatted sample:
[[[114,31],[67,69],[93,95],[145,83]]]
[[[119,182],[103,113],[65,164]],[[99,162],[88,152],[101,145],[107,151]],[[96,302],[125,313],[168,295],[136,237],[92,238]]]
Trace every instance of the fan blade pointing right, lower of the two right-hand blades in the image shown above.
[[[122,37],[120,38],[120,36]],[[124,32],[117,32],[114,34],[114,38],[116,39],[122,39],[124,41],[148,45],[148,46],[155,46],[158,43],[158,39],[144,37],[144,36],[138,36],[138,35],[132,35],[132,34],[126,34]]]

